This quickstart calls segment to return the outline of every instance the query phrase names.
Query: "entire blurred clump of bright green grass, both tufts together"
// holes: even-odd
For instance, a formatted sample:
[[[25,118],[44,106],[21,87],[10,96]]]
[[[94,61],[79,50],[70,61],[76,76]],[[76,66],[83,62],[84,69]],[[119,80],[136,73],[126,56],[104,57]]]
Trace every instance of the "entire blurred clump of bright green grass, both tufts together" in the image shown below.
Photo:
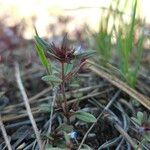
[[[103,16],[99,31],[94,34],[95,47],[100,65],[109,68],[110,65],[108,64],[111,63],[113,66],[111,69],[115,70],[115,72],[117,71],[116,73],[119,73],[119,76],[131,87],[135,87],[141,66],[144,42],[143,33],[141,33],[136,43],[134,41],[136,29],[139,27],[139,21],[136,19],[137,0],[133,3],[129,23],[123,20],[123,11],[125,10],[119,11],[117,8],[118,5],[119,1],[116,2],[115,9],[110,6],[106,16],[104,15],[105,13],[102,12]],[[104,11],[106,11],[106,9]],[[111,25],[110,19],[112,20]],[[111,31],[108,32],[109,26],[111,27]],[[115,43],[112,43],[112,39],[114,38]]]

